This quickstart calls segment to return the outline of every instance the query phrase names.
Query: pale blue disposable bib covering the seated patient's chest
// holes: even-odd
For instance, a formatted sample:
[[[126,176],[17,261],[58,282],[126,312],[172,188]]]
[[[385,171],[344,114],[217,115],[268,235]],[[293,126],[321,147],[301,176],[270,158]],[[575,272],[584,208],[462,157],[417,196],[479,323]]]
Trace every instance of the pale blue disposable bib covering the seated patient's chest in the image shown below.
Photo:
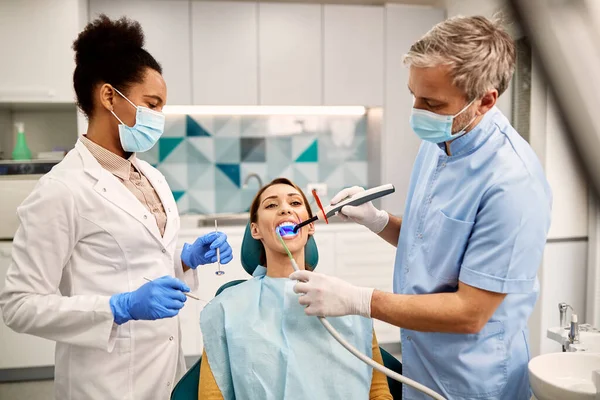
[[[369,398],[372,368],[342,347],[294,293],[296,281],[265,276],[223,291],[200,315],[204,348],[225,400]],[[327,319],[372,357],[373,322]]]

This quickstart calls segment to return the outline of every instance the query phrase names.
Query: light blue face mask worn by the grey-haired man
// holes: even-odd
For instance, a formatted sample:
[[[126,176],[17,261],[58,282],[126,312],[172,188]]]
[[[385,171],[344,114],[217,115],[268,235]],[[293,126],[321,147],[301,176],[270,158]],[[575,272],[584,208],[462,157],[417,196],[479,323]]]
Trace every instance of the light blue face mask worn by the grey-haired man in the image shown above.
[[[459,132],[452,134],[452,122],[454,118],[462,114],[475,100],[467,104],[462,110],[454,115],[440,115],[431,111],[413,108],[410,115],[410,126],[413,131],[423,140],[432,143],[442,143],[454,140],[465,134],[466,129],[475,121],[477,115]]]

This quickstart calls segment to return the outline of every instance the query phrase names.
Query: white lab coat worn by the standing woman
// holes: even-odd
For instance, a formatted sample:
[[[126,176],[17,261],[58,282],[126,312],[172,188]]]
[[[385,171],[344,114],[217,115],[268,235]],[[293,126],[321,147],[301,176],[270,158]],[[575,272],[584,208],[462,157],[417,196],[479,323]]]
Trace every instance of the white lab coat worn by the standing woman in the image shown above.
[[[117,326],[109,305],[163,275],[195,290],[176,251],[179,215],[165,178],[135,165],[167,213],[161,237],[153,215],[77,142],[18,208],[12,264],[0,294],[5,323],[55,340],[60,400],[168,399],[185,372],[179,317]]]

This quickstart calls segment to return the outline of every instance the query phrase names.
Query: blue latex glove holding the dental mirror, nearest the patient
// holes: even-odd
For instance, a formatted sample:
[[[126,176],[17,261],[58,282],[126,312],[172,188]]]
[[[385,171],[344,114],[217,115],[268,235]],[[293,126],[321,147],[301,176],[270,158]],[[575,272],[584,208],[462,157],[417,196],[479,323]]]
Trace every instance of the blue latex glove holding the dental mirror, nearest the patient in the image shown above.
[[[221,264],[233,259],[233,251],[227,243],[227,235],[223,232],[212,232],[196,239],[194,244],[184,244],[181,250],[181,261],[190,268],[198,265],[217,262],[217,249],[221,252]]]

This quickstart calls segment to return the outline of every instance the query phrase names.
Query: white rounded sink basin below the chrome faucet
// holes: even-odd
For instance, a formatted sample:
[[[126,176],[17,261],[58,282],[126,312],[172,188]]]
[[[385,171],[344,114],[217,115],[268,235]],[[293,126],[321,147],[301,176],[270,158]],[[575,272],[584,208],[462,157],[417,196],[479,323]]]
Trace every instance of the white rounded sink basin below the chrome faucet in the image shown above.
[[[538,400],[595,400],[599,370],[600,353],[550,353],[529,362],[529,381]]]

